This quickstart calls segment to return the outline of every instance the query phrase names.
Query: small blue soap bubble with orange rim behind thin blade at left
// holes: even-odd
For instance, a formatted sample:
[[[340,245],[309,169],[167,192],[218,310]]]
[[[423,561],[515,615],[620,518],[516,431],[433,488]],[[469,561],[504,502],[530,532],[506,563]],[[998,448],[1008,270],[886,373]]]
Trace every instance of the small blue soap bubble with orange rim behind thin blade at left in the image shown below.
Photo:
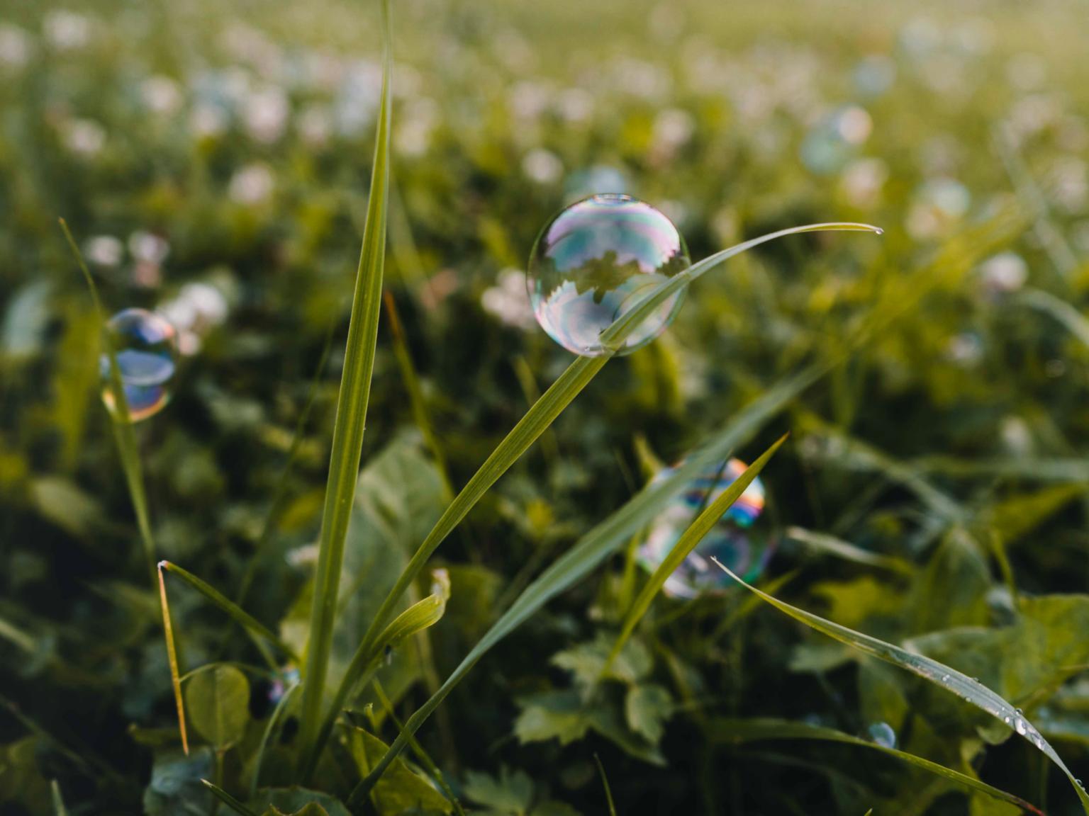
[[[174,326],[146,309],[125,309],[110,319],[107,331],[121,371],[130,421],[154,417],[170,401],[171,380],[178,363]],[[113,413],[109,355],[102,355],[99,369],[102,401]]]

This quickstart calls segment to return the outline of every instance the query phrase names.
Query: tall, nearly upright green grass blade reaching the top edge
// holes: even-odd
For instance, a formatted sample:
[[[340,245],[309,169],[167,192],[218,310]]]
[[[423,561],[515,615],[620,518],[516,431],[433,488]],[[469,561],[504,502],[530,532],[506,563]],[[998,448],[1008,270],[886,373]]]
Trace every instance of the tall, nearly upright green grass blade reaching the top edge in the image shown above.
[[[355,486],[359,475],[359,454],[366,425],[370,379],[375,369],[375,346],[378,343],[378,319],[382,305],[382,272],[386,262],[386,221],[390,186],[390,83],[392,81],[392,44],[389,0],[382,0],[382,96],[378,109],[375,137],[375,159],[367,202],[367,220],[363,232],[363,248],[356,272],[355,295],[344,354],[337,421],[333,425],[332,455],[326,504],[321,516],[318,544],[318,568],[314,577],[314,601],[310,610],[309,641],[303,676],[303,707],[299,721],[299,757],[316,753],[321,725],[321,704],[326,675],[337,622],[337,593],[344,561],[344,537],[347,534]],[[383,621],[384,625],[386,621]]]

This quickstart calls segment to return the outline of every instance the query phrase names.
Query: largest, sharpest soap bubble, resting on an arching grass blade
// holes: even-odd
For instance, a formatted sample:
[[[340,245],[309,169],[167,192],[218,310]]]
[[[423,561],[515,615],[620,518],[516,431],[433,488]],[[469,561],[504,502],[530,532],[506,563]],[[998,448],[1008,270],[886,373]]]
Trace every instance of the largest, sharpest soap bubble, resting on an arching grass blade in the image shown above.
[[[590,196],[561,210],[541,230],[526,285],[537,322],[577,355],[605,354],[600,334],[639,300],[688,268],[688,249],[673,223],[631,196]],[[631,354],[665,331],[681,308],[677,292],[627,336]]]

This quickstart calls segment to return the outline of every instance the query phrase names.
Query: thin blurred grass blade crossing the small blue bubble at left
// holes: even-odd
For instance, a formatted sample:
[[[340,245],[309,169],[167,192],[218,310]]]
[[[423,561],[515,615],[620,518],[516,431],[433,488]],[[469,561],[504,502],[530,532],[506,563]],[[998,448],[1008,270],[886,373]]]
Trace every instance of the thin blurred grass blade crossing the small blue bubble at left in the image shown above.
[[[144,545],[144,557],[147,560],[148,577],[151,586],[156,584],[155,569],[155,539],[151,535],[150,515],[147,511],[147,494],[144,492],[144,472],[139,461],[139,449],[136,446],[136,432],[133,423],[129,421],[129,399],[125,397],[125,386],[121,379],[121,368],[118,366],[118,357],[114,354],[113,344],[110,342],[109,332],[106,329],[106,311],[102,309],[102,301],[98,297],[98,287],[95,286],[95,279],[87,269],[87,262],[83,259],[83,252],[72,237],[72,232],[68,227],[64,219],[58,219],[64,238],[68,240],[75,262],[83,272],[83,277],[87,282],[90,290],[90,299],[95,305],[95,314],[101,326],[101,343],[106,349],[110,363],[110,392],[113,396],[113,410],[110,411],[110,426],[113,429],[113,438],[118,445],[118,453],[121,456],[121,468],[125,473],[125,483],[129,485],[129,495],[132,498],[133,509],[136,512],[136,527],[139,530],[140,542]]]

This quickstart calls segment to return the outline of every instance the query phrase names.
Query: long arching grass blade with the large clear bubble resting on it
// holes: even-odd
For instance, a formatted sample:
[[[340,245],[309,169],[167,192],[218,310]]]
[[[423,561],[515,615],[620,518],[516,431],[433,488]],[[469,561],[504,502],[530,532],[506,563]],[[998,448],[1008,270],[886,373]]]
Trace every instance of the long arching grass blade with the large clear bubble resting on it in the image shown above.
[[[770,240],[787,235],[845,230],[855,232],[873,232],[878,234],[881,233],[878,227],[869,226],[867,224],[807,224],[805,226],[796,226],[790,230],[780,230],[775,233],[761,235],[758,238],[752,238],[751,240],[737,244],[729,249],[723,249],[722,251],[715,252],[714,255],[705,258],[702,261],[689,267],[684,272],[674,275],[669,279],[669,281],[665,281],[657,286],[640,300],[636,301],[629,312],[613,322],[612,325],[610,325],[609,329],[601,334],[601,342],[607,348],[614,349],[612,353],[614,354],[615,349],[619,349],[624,345],[624,341],[627,336],[635,331],[644,320],[650,317],[657,308],[661,306],[661,304],[687,286],[689,283],[698,280],[711,269],[723,261],[733,258],[735,255],[739,255],[748,249],[751,249],[752,247],[759,246],[760,244],[766,244]],[[341,685],[337,690],[337,695],[333,698],[333,705],[326,715],[318,740],[309,752],[308,758],[304,765],[304,768],[306,769],[304,777],[308,775],[308,772],[313,771],[315,765],[317,764],[317,754],[320,752],[321,746],[329,738],[329,734],[332,733],[333,722],[337,719],[338,712],[343,708],[348,695],[352,693],[352,690],[359,681],[359,678],[363,677],[366,668],[366,655],[374,648],[375,638],[393,615],[393,610],[396,608],[396,605],[405,590],[408,588],[408,584],[416,579],[416,576],[418,576],[420,570],[424,569],[424,566],[431,557],[431,554],[435,553],[443,540],[450,535],[454,528],[456,528],[469,510],[473,509],[476,503],[484,497],[491,485],[493,485],[499,478],[503,475],[503,473],[505,473],[526,450],[529,449],[529,446],[533,445],[542,433],[544,433],[555,418],[563,412],[571,401],[578,396],[583,388],[590,383],[597,373],[611,359],[612,354],[605,354],[600,357],[579,357],[571,363],[567,370],[564,371],[554,383],[552,383],[551,387],[549,387],[547,392],[544,392],[543,396],[534,403],[529,411],[526,412],[521,420],[518,420],[518,423],[491,453],[485,463],[480,466],[480,469],[477,470],[472,479],[469,479],[466,485],[462,489],[461,493],[457,494],[454,500],[445,509],[442,517],[438,520],[438,522],[436,522],[431,532],[428,533],[424,543],[419,545],[419,548],[413,555],[408,565],[397,578],[396,583],[394,583],[393,588],[390,590],[386,599],[382,602],[381,607],[379,607],[378,611],[375,614],[367,632],[364,634],[363,640],[356,650],[356,654],[352,658],[352,663],[348,665],[347,671],[344,675],[344,679],[341,681]]]

